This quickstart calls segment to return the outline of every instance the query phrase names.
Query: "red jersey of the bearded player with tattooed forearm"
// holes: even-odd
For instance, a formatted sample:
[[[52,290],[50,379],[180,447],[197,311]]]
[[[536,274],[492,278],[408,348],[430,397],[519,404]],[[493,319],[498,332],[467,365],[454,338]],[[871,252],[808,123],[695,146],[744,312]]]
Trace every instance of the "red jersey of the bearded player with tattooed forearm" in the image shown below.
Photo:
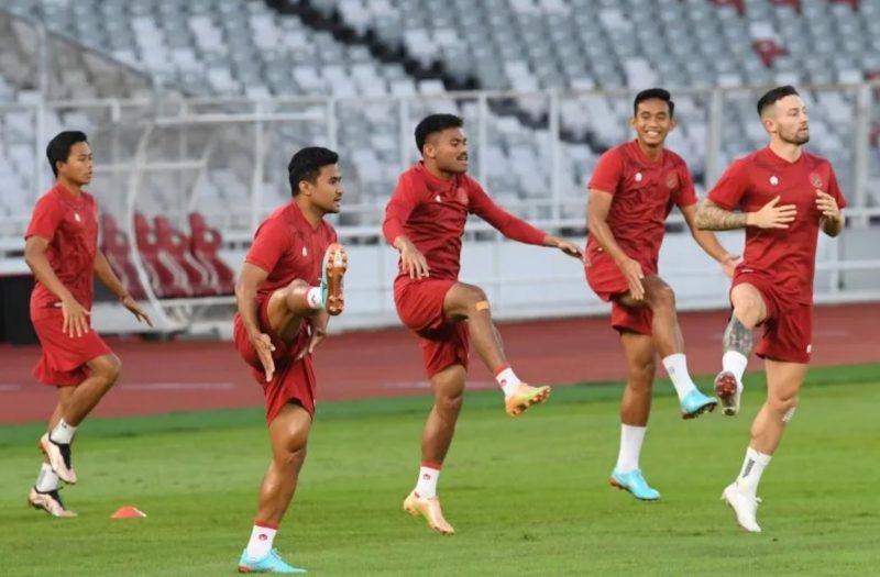
[[[789,163],[767,147],[736,160],[708,193],[708,199],[724,210],[755,212],[777,196],[781,197],[780,206],[798,208],[788,229],[746,228],[746,249],[737,271],[767,275],[785,298],[807,304],[813,302],[822,218],[816,208],[817,189],[831,195],[839,208],[846,207],[828,160],[803,152]]]

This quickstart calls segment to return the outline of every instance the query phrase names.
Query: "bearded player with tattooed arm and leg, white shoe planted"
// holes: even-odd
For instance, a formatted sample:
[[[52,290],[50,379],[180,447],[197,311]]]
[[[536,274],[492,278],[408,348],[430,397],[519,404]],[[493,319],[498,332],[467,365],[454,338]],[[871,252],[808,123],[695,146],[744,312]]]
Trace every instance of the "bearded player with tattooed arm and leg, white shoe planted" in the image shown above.
[[[810,363],[818,231],[840,234],[846,206],[831,163],[803,149],[810,119],[798,91],[791,86],[770,90],[758,100],[758,114],[769,146],[736,160],[696,215],[704,230],[746,229],[744,259],[730,290],[723,368],[715,378],[725,414],[739,412],[751,332],[763,326],[755,352],[765,359],[767,400],[752,422],[739,476],[722,495],[750,532],[761,531],[758,484],[794,414]],[[734,212],[737,208],[741,212]]]

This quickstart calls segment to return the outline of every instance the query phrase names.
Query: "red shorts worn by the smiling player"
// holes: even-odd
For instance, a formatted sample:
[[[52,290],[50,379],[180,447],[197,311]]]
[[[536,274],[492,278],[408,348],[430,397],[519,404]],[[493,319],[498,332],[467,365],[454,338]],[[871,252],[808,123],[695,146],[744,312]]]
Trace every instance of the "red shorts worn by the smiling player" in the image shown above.
[[[645,275],[657,274],[657,263],[641,263]],[[629,284],[620,274],[614,259],[604,251],[595,251],[586,260],[584,268],[586,282],[593,292],[605,302],[612,303],[612,328],[617,331],[632,331],[650,336],[653,313],[648,307],[625,307],[614,300],[617,295],[629,292]]]

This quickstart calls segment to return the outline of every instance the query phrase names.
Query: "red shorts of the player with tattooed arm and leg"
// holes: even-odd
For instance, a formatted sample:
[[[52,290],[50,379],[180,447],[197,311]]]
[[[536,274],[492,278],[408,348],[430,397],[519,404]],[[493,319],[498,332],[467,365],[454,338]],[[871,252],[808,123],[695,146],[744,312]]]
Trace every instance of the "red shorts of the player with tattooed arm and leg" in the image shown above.
[[[772,278],[759,273],[737,271],[730,288],[745,282],[758,289],[767,306],[767,318],[761,323],[763,335],[755,354],[785,363],[810,363],[813,304],[791,302],[777,291]]]

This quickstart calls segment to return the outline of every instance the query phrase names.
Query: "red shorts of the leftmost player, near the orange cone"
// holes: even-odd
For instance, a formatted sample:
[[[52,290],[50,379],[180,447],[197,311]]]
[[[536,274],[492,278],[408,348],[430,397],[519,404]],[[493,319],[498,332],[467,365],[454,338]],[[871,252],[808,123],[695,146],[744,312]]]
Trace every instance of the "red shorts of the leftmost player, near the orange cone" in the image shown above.
[[[31,311],[36,336],[43,354],[33,375],[44,385],[76,387],[89,376],[86,363],[112,354],[107,343],[94,329],[82,336],[68,336],[62,332],[64,315],[61,309]]]

